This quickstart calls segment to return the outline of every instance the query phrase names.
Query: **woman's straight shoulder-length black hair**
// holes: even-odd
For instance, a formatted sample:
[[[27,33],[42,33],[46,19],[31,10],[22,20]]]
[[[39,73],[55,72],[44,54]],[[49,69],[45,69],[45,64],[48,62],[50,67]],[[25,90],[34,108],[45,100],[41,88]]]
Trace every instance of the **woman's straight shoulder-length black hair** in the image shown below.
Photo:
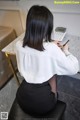
[[[23,47],[26,45],[43,51],[43,40],[51,41],[53,15],[45,6],[34,5],[30,8],[26,19],[26,31]]]

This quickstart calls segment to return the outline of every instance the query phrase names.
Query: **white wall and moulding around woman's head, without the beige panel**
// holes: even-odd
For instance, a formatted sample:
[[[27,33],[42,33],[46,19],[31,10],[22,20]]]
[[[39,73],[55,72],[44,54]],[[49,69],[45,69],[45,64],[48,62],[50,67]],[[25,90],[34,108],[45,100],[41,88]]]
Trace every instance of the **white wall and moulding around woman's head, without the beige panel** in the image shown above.
[[[55,27],[67,27],[68,33],[80,36],[80,5],[54,5],[53,0],[20,0],[15,2],[0,1],[0,8],[21,9],[21,20],[25,29],[25,16],[34,4],[45,5],[52,11]]]

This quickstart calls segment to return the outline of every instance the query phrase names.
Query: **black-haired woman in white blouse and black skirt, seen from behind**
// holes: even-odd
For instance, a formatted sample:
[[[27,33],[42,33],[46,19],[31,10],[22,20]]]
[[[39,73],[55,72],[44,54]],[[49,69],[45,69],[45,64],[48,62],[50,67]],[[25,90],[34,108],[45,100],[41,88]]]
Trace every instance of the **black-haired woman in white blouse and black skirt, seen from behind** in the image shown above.
[[[32,6],[27,15],[25,37],[16,44],[18,69],[24,77],[16,97],[26,113],[42,115],[54,109],[55,75],[73,75],[79,70],[68,45],[61,49],[58,41],[51,41],[52,30],[53,15],[48,8]],[[54,84],[53,92],[50,81]]]

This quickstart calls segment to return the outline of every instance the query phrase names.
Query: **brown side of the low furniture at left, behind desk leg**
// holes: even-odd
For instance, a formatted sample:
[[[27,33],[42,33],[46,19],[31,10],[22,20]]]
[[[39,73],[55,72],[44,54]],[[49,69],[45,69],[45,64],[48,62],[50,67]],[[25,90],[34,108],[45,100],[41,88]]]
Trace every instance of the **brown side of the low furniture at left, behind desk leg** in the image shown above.
[[[11,60],[17,69],[16,57],[11,55]],[[10,80],[13,76],[8,60],[3,52],[0,51],[0,89]]]

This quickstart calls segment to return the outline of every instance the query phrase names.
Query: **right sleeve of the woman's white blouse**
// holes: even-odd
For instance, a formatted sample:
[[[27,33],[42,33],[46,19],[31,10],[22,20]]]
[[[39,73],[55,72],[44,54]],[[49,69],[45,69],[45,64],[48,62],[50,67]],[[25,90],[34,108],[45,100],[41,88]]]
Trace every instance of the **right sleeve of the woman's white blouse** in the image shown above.
[[[79,71],[79,62],[68,50],[62,51],[60,48],[56,55],[57,74],[74,75]]]

